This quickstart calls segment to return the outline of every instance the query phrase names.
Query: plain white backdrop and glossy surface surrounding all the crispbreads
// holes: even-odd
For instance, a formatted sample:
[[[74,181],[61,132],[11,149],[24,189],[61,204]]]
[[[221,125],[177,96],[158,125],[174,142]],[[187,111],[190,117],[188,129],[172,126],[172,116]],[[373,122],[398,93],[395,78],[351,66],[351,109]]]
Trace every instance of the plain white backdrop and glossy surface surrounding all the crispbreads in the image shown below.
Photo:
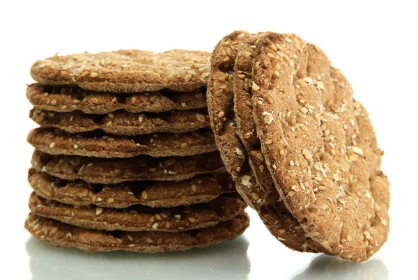
[[[151,3],[153,2],[153,3]],[[362,3],[363,2],[363,3]],[[0,172],[4,279],[401,279],[416,277],[417,8],[415,1],[1,1]],[[300,254],[251,212],[242,238],[184,253],[84,254],[23,229],[33,148],[26,84],[37,59],[114,49],[211,51],[235,29],[297,33],[341,68],[369,109],[392,183],[389,241],[364,264]],[[409,277],[406,275],[409,274]],[[294,278],[293,278],[294,277]]]

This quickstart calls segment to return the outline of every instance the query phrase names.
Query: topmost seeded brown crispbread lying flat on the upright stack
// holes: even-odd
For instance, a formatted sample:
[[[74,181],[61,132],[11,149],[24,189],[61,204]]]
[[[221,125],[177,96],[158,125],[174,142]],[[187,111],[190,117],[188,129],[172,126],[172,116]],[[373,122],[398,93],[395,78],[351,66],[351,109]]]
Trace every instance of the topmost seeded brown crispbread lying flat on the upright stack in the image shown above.
[[[80,86],[88,91],[194,91],[208,82],[209,59],[209,52],[184,49],[158,54],[136,49],[84,52],[36,61],[31,76],[41,84]]]

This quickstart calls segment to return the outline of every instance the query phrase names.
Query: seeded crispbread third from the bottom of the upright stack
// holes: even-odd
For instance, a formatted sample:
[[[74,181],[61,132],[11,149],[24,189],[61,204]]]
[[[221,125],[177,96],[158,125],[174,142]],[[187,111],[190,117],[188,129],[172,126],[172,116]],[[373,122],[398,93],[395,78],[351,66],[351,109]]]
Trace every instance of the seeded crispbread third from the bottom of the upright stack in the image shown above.
[[[82,180],[60,180],[45,172],[29,169],[28,181],[33,191],[45,199],[102,208],[128,208],[132,205],[169,208],[204,203],[221,194],[235,192],[235,186],[226,173],[218,178],[199,176],[180,182],[141,181],[95,185]]]

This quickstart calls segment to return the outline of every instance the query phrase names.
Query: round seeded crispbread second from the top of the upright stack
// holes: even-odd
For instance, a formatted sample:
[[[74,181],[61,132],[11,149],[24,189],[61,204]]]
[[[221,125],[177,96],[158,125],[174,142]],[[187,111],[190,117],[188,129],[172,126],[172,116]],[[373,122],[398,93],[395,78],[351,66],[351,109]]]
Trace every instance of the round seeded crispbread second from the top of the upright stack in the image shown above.
[[[185,93],[163,90],[122,95],[70,86],[31,84],[26,88],[26,98],[38,109],[59,112],[79,110],[86,114],[108,114],[121,109],[131,113],[206,109],[206,88]]]

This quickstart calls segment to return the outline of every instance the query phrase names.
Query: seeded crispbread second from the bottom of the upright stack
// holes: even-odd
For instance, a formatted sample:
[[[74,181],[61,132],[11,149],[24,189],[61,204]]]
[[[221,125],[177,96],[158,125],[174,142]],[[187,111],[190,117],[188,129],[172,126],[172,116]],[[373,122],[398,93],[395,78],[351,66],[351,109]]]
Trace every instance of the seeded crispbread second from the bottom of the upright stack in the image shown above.
[[[34,192],[29,198],[33,214],[98,231],[189,231],[233,219],[246,207],[240,199],[223,196],[208,203],[175,208],[135,205],[125,209],[67,205],[43,199]]]

